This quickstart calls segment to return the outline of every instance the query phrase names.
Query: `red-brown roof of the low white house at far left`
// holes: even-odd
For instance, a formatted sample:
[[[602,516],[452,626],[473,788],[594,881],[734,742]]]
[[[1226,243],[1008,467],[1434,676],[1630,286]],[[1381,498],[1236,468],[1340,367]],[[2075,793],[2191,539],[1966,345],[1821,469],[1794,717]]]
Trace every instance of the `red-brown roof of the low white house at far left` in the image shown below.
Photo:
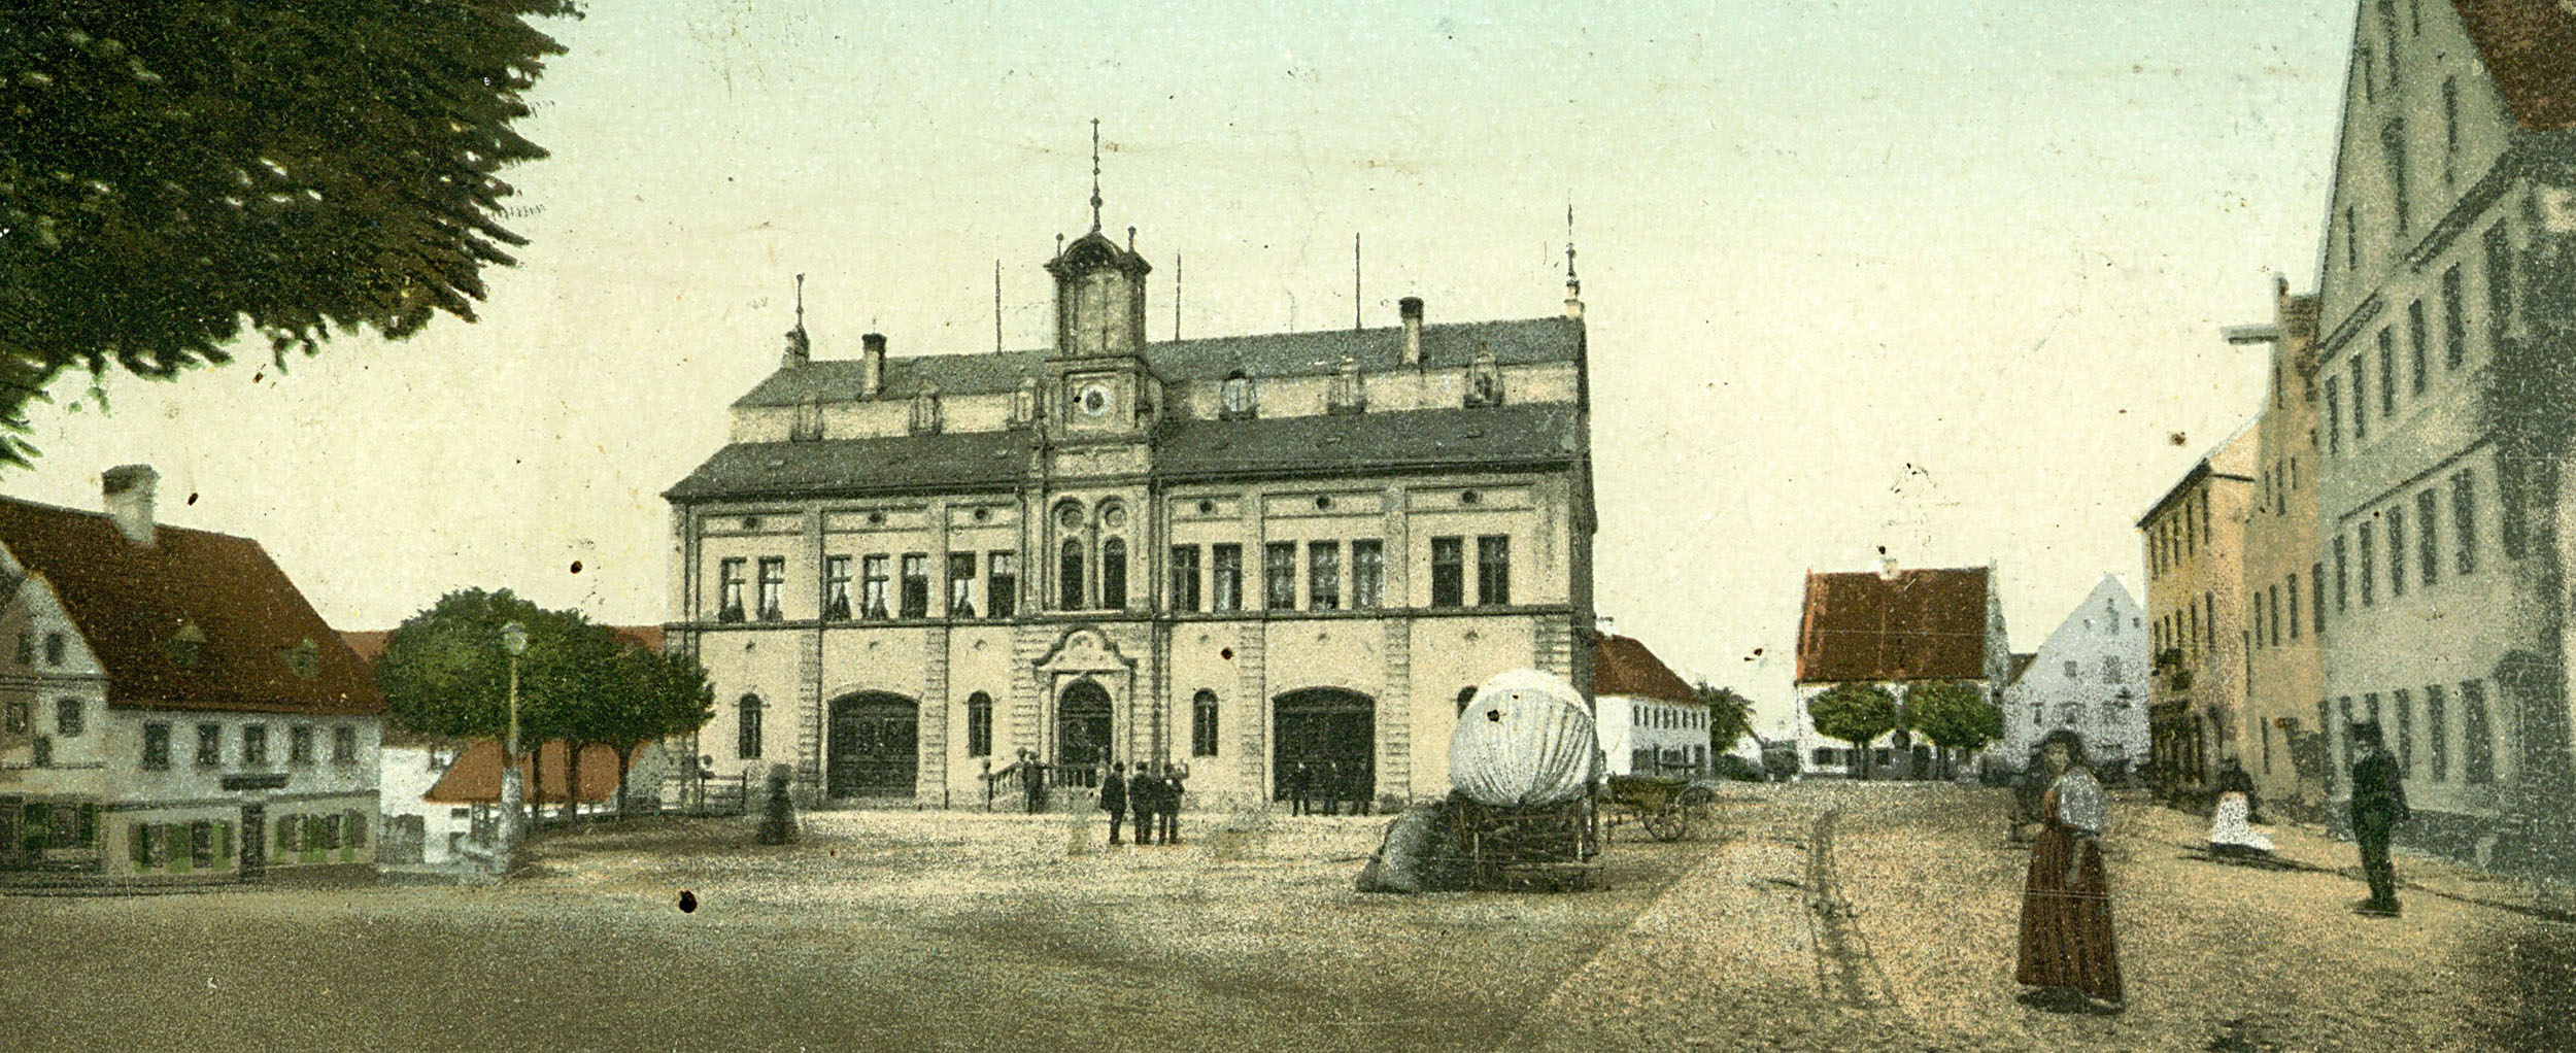
[[[155,528],[142,546],[103,512],[0,497],[0,546],[62,600],[108,672],[108,705],[384,713],[366,664],[258,541]],[[196,626],[198,659],[170,646]],[[312,644],[312,664],[296,669]]]

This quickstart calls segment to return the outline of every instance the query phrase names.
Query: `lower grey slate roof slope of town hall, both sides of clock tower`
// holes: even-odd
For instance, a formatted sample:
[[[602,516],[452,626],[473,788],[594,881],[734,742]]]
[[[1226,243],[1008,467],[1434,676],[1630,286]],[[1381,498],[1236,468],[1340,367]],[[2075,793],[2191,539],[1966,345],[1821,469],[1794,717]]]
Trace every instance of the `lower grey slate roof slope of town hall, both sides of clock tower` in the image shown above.
[[[806,497],[1015,487],[1036,430],[732,443],[662,497]],[[1571,404],[1404,409],[1267,420],[1172,420],[1154,474],[1234,479],[1564,463],[1582,448]]]

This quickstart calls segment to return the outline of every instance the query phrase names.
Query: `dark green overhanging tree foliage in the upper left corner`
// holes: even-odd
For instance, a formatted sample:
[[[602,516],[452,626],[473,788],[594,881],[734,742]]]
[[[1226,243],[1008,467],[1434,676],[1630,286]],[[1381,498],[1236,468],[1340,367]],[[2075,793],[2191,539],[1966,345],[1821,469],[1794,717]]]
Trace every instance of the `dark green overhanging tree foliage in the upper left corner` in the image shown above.
[[[64,368],[474,319],[572,0],[21,0],[0,15],[0,461]]]

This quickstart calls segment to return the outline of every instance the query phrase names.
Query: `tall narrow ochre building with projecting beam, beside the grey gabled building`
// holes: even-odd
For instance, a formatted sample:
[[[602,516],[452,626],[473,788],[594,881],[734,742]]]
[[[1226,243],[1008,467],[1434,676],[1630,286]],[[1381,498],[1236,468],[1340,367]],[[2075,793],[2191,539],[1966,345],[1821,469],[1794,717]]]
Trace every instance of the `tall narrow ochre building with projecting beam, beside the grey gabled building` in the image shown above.
[[[2272,368],[2254,417],[2254,499],[2244,525],[2244,741],[2241,762],[2264,803],[2326,806],[2326,564],[2316,551],[2316,296],[2272,286],[2272,322],[2231,327],[2228,342],[2267,345]]]

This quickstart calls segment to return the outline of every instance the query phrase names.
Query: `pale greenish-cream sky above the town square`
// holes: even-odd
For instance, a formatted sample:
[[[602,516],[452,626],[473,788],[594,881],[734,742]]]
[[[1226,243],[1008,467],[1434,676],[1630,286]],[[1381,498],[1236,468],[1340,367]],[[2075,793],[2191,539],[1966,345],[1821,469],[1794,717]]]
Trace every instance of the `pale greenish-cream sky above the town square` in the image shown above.
[[[260,538],[340,628],[466,584],[659,623],[659,492],[775,368],[791,275],[819,358],[976,353],[999,260],[1041,348],[1097,116],[1154,340],[1175,255],[1185,335],[1350,324],[1355,232],[1373,327],[1556,314],[1571,198],[1600,608],[1767,726],[1806,569],[1991,561],[2017,649],[2143,582],[2130,525],[2257,409],[2218,327],[2316,283],[2349,3],[1473,8],[592,3],[546,23],[554,157],[505,172],[533,245],[482,322],[106,415],[64,378],[0,489],[152,463],[165,523]]]

